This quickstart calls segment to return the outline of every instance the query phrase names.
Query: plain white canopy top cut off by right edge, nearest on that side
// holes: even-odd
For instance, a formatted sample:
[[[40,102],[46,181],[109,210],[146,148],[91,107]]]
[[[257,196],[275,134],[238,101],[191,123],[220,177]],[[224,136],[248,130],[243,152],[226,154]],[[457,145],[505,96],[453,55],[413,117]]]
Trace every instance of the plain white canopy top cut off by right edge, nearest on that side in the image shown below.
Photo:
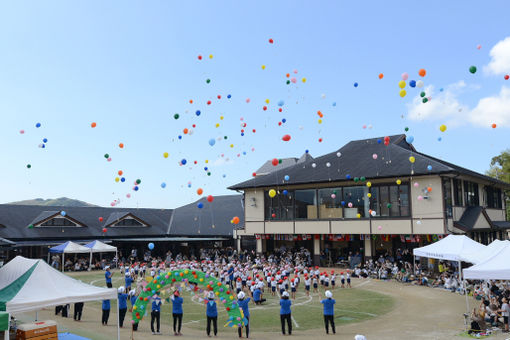
[[[510,280],[510,242],[493,256],[464,269],[464,278],[473,280]]]

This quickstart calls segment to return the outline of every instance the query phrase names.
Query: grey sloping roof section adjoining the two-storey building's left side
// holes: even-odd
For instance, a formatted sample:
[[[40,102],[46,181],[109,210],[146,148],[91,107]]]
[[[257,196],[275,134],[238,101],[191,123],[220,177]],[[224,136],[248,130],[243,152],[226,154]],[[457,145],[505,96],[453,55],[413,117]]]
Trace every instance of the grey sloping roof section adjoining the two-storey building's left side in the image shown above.
[[[201,209],[199,203],[203,205]],[[217,196],[212,202],[201,198],[174,210],[167,234],[232,236],[234,225],[230,221],[234,216],[239,217],[239,224],[244,223],[242,195]]]

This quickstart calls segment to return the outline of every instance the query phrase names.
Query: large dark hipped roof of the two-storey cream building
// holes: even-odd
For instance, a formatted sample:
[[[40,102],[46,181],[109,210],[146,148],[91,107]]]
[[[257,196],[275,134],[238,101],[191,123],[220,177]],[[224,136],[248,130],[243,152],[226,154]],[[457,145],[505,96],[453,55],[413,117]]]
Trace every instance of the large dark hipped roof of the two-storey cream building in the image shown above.
[[[417,152],[412,144],[406,142],[404,134],[389,138],[388,145],[384,145],[384,137],[351,141],[324,156],[284,168],[275,167],[270,176],[257,175],[229,189],[350,181],[355,177],[375,179],[431,174],[464,174],[510,188],[508,183]],[[372,157],[374,154],[377,159]],[[415,158],[414,163],[409,161],[411,156]],[[432,166],[430,171],[429,165]],[[286,175],[290,177],[289,181],[284,180]]]

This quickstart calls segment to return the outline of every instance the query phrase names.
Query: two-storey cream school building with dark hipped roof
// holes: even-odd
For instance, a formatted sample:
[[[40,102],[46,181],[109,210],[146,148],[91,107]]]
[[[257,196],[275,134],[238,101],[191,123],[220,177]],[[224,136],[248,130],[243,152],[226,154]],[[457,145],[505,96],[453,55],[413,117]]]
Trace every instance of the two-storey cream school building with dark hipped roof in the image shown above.
[[[238,247],[306,247],[319,263],[373,257],[447,234],[507,239],[510,185],[417,151],[405,135],[351,141],[313,158],[268,161],[229,189],[243,192]],[[243,242],[244,243],[244,242]],[[324,262],[323,262],[324,263]]]

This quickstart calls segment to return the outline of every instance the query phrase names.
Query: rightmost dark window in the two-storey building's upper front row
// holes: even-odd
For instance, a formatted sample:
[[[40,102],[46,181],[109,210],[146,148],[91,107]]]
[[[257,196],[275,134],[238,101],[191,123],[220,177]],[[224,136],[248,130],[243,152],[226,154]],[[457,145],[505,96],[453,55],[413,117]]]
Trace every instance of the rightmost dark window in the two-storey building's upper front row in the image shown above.
[[[409,216],[409,185],[372,186],[370,208],[376,217]]]

